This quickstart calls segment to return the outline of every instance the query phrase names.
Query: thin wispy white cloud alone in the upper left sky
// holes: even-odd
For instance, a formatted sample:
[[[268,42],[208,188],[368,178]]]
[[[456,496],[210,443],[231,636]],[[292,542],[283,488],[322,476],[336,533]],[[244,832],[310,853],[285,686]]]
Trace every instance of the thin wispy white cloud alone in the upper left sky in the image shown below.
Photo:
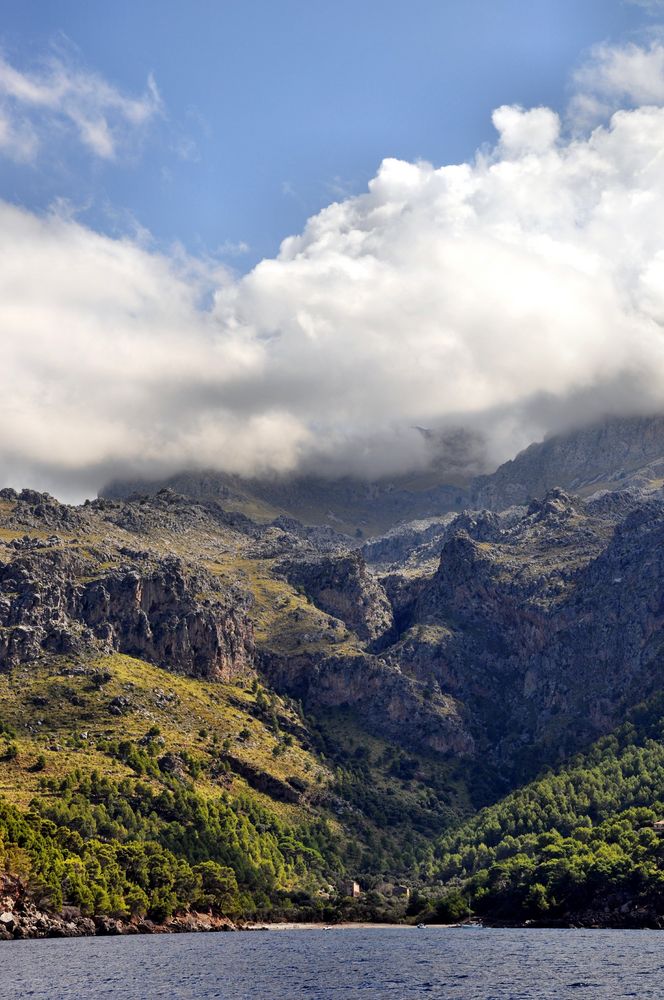
[[[54,57],[22,72],[0,56],[0,154],[19,162],[34,160],[63,127],[94,156],[113,160],[160,109],[152,77],[140,97],[128,97],[71,61]]]

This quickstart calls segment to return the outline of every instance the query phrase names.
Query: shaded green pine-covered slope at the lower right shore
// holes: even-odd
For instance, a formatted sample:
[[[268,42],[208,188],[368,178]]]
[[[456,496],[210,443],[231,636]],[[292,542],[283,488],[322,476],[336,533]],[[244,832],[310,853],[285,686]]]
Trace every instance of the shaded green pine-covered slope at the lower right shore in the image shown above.
[[[491,919],[664,904],[664,696],[439,841],[438,877]]]

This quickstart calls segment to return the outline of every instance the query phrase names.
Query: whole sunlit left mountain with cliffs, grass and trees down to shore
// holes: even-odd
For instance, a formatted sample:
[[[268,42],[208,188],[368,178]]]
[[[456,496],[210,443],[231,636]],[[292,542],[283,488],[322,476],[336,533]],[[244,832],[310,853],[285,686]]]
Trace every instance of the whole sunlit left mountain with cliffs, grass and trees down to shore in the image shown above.
[[[361,615],[289,582],[337,559]],[[466,740],[448,702],[358,634],[388,607],[329,529],[0,491],[0,860],[73,907],[66,933],[366,914],[347,873],[395,882],[487,798],[441,758]],[[64,933],[17,884],[6,933]]]

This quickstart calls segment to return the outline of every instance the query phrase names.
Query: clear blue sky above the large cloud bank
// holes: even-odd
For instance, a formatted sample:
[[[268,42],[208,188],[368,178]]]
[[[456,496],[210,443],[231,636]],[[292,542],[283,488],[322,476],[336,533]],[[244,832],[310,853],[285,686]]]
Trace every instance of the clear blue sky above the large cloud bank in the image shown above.
[[[622,0],[5,0],[14,67],[56,53],[127,95],[152,74],[163,107],[112,162],[65,140],[30,165],[0,160],[0,195],[68,199],[95,229],[145,227],[246,270],[384,157],[463,161],[493,142],[498,105],[563,107],[589,47],[640,37],[651,14]]]

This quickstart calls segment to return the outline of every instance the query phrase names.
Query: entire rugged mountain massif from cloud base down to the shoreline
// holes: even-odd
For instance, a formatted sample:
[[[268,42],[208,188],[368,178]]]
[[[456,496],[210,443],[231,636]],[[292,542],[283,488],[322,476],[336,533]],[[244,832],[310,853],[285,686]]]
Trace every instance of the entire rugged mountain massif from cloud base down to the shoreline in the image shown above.
[[[663,427],[532,446],[472,485],[493,509],[368,539],[294,518],[302,481],[254,517],[189,474],[0,491],[0,936],[452,919],[460,887],[486,919],[659,920]]]

